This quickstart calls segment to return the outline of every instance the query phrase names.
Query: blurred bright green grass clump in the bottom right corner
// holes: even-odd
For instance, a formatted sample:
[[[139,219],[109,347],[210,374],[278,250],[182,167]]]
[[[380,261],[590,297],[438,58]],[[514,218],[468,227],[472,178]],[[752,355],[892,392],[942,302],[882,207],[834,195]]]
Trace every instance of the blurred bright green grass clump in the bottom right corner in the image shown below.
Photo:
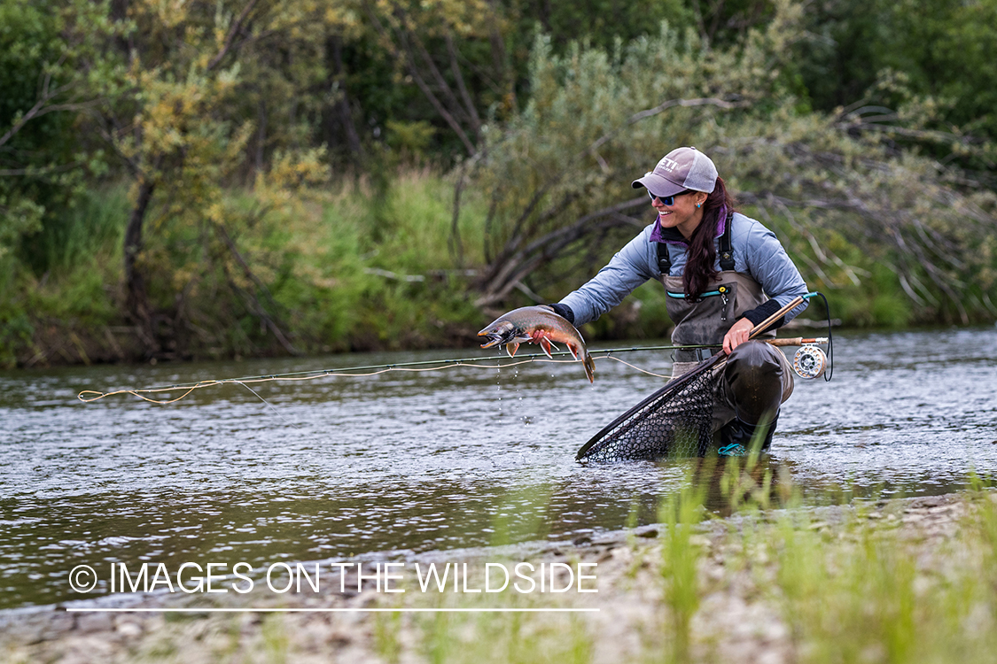
[[[979,506],[984,523],[993,512],[987,503]],[[937,564],[947,555],[960,558],[949,558],[956,568],[942,572],[914,558],[889,522],[859,521],[831,540],[814,528],[820,524],[782,520],[771,551],[784,618],[806,653],[802,661],[986,661],[992,632],[979,621],[992,616],[982,610],[989,600],[977,574],[988,573],[991,563],[977,557],[974,521],[967,520],[958,543],[940,545]]]

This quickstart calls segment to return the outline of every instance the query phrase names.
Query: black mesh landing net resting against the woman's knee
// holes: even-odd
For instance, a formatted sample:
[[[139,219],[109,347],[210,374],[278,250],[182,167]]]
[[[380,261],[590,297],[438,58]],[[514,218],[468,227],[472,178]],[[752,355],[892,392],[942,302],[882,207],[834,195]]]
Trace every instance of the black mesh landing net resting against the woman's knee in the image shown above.
[[[713,358],[718,359],[718,358]],[[575,457],[592,463],[704,456],[710,446],[715,391],[722,363],[668,383],[592,437]]]

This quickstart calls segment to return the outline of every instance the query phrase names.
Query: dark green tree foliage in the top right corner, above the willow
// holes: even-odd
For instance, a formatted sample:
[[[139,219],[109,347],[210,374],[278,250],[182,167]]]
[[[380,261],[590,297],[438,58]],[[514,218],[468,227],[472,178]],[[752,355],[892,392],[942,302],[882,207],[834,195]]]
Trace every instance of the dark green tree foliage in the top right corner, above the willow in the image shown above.
[[[934,111],[925,128],[953,132],[954,140],[964,132],[997,139],[997,2],[834,0],[812,4],[805,20],[809,38],[797,43],[791,67],[816,108],[864,100],[886,107],[875,111],[881,116],[927,101]],[[887,79],[891,85],[876,85]],[[952,142],[933,151],[949,155]],[[993,167],[992,152],[983,164]]]

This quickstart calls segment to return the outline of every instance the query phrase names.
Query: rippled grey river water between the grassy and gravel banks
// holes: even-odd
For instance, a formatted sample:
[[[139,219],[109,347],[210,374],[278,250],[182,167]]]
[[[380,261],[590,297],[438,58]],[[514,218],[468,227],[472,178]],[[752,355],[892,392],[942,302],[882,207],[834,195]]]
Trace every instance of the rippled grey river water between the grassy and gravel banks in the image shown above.
[[[689,460],[574,462],[661,384],[608,359],[594,385],[580,365],[534,362],[261,383],[258,396],[229,384],[166,406],[76,398],[454,354],[0,373],[0,608],[81,599],[68,574],[84,563],[262,567],[571,541],[655,522],[661,500],[688,485]],[[625,358],[670,365],[662,351]],[[831,382],[797,379],[764,461],[805,501],[941,494],[997,473],[997,329],[845,332],[834,360]],[[108,590],[102,581],[87,597]]]

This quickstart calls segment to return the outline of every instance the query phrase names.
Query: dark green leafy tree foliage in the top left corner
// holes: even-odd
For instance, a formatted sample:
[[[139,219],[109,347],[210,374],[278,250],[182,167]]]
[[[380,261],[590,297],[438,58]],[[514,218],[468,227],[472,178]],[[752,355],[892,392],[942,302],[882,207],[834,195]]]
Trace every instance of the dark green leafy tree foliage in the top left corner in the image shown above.
[[[101,151],[84,150],[76,118],[92,102],[89,82],[105,70],[107,11],[80,0],[0,2],[0,257],[58,224],[84,192],[87,171],[103,170]],[[30,244],[22,255],[39,274],[47,269]]]

